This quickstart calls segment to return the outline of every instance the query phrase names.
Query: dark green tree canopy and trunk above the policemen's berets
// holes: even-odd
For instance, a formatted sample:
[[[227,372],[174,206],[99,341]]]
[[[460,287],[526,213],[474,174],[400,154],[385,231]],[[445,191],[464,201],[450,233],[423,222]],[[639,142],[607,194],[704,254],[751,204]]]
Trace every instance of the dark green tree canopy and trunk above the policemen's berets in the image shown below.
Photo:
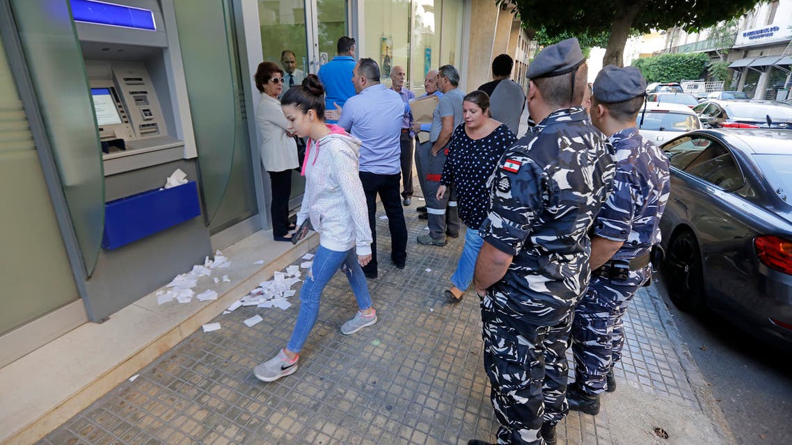
[[[506,0],[497,0],[504,2]],[[604,64],[622,66],[630,30],[649,32],[680,26],[697,32],[720,21],[740,17],[763,0],[508,0],[516,6],[527,29],[546,30],[548,36],[569,32],[597,36],[607,32]]]

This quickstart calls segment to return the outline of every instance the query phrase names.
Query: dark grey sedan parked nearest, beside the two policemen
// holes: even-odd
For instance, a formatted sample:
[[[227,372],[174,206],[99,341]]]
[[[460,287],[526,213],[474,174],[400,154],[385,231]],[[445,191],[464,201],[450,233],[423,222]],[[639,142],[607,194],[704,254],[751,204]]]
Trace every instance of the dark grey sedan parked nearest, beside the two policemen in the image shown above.
[[[691,131],[662,146],[671,196],[661,219],[664,282],[705,308],[792,344],[792,131]]]

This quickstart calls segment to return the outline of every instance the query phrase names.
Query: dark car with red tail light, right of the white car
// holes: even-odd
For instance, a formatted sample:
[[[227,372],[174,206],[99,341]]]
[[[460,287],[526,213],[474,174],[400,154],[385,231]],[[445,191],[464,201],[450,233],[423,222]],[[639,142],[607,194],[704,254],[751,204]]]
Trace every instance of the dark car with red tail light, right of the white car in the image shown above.
[[[693,111],[705,128],[792,128],[792,107],[776,101],[706,101]]]

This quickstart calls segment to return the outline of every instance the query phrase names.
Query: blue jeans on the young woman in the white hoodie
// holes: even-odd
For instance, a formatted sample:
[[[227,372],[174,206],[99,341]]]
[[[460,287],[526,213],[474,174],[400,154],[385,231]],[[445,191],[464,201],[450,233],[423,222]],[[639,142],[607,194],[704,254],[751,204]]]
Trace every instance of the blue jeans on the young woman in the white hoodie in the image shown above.
[[[289,351],[299,352],[303,348],[310,330],[314,329],[316,324],[322,291],[325,290],[325,286],[336,274],[338,268],[346,273],[360,310],[371,307],[371,295],[368,293],[363,269],[357,262],[355,248],[346,252],[336,252],[319,245],[314,257],[314,264],[310,266],[303,287],[299,291],[299,314],[297,314],[297,322],[291,333],[291,339],[286,346]]]

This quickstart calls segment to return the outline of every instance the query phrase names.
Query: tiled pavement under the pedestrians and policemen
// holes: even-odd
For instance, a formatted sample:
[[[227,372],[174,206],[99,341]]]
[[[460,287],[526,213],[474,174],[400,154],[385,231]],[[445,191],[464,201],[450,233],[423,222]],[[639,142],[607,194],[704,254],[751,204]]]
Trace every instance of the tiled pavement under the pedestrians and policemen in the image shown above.
[[[379,278],[369,281],[376,325],[352,336],[339,332],[356,305],[345,276],[338,273],[322,297],[299,370],[263,383],[251,370],[286,344],[298,295],[288,310],[241,307],[214,320],[222,329],[192,333],[139,371],[134,381],[117,386],[40,443],[434,444],[494,439],[478,299],[471,291],[451,306],[440,295],[464,237],[444,248],[417,245],[425,221],[417,219],[414,208],[422,203],[413,200],[405,210],[410,235],[404,270],[388,261],[387,224],[377,219]],[[639,291],[625,318],[626,345],[616,377],[619,384],[654,397],[697,407],[657,305],[662,302],[654,287]],[[264,321],[252,328],[242,323],[254,314]],[[559,443],[609,444],[609,428],[607,409],[596,417],[573,412],[559,424]]]

